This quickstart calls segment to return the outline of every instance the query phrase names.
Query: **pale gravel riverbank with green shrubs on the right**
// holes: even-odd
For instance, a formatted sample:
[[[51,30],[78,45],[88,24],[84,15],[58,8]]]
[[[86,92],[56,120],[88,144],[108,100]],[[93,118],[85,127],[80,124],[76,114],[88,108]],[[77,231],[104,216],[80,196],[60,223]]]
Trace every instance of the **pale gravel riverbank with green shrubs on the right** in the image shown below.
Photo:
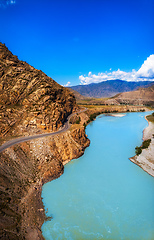
[[[130,160],[141,167],[145,172],[154,177],[154,123],[148,121],[148,127],[143,131],[143,141],[151,139],[147,149],[143,149],[139,156],[135,155]]]

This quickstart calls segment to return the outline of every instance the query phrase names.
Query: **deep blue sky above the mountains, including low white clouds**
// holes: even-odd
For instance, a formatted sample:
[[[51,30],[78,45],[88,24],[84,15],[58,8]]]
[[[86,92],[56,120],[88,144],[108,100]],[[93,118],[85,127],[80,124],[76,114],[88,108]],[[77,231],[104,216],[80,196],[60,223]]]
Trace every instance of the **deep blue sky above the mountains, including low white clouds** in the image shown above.
[[[154,0],[0,0],[0,23],[0,41],[62,85],[154,80]]]

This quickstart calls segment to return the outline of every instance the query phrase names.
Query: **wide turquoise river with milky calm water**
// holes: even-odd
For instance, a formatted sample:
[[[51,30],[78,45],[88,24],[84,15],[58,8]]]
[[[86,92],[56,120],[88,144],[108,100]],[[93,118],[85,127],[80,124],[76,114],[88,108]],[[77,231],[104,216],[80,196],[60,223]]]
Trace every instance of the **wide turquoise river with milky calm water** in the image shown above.
[[[43,186],[46,240],[154,239],[154,178],[128,158],[142,143],[147,113],[100,115],[91,141],[64,174]]]

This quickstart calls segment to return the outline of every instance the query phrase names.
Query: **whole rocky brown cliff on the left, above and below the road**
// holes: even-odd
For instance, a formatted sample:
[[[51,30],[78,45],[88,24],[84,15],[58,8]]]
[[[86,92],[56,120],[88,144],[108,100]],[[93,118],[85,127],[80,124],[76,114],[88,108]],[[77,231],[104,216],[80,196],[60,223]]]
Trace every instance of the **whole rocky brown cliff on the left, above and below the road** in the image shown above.
[[[19,61],[0,43],[0,144],[20,135],[55,131],[77,109],[68,89]],[[88,145],[85,129],[74,124],[65,133],[0,153],[0,239],[43,239],[42,184],[59,177],[64,164],[81,156]]]

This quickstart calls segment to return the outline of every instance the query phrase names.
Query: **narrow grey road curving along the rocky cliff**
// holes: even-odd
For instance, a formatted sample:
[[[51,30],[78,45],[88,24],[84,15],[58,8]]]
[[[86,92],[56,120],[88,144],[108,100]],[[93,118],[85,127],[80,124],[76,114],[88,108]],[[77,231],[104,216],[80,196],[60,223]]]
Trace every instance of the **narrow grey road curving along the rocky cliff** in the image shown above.
[[[65,122],[64,126],[62,129],[58,130],[57,132],[52,132],[52,133],[42,133],[42,134],[37,134],[37,135],[33,135],[33,136],[27,136],[27,137],[20,137],[20,138],[15,138],[13,140],[7,141],[4,144],[2,144],[0,146],[0,152],[4,151],[5,149],[17,144],[17,143],[21,143],[21,142],[26,142],[32,139],[36,139],[36,138],[41,138],[41,137],[47,137],[47,136],[54,136],[57,135],[59,133],[65,132],[69,129],[70,124],[69,124],[69,120],[70,118],[77,114],[77,113],[81,113],[81,112],[85,112],[87,110],[87,108],[85,108],[84,110],[80,110],[79,112],[75,112],[72,113],[71,115],[68,116],[67,121]]]

